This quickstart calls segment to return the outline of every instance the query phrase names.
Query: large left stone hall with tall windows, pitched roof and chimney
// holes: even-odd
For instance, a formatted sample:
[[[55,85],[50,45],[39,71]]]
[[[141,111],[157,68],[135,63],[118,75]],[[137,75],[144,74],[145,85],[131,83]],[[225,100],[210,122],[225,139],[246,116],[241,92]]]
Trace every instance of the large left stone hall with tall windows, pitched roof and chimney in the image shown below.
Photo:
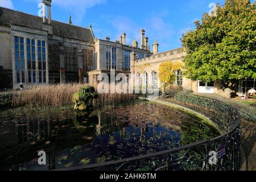
[[[43,2],[43,18],[0,7],[0,66],[14,89],[79,81],[82,69],[93,69],[91,28],[52,20],[51,1]]]

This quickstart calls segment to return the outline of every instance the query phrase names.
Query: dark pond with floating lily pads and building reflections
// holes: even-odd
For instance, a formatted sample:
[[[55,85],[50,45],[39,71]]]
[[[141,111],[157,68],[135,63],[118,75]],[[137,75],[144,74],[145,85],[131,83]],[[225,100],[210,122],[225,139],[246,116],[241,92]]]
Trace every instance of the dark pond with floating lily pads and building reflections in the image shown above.
[[[150,102],[95,109],[90,114],[72,106],[19,107],[0,110],[0,169],[49,170],[102,163],[217,135],[199,118]],[[41,150],[46,151],[46,166],[38,164]]]

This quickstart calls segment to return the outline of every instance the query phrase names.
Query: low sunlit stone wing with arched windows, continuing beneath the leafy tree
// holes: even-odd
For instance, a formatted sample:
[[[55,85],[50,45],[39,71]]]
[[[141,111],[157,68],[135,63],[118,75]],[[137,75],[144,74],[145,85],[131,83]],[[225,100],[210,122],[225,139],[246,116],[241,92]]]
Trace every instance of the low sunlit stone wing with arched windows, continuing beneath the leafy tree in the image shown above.
[[[183,62],[186,56],[184,48],[177,48],[166,52],[158,52],[159,44],[155,40],[153,44],[153,55],[143,59],[137,59],[136,53],[131,53],[131,73],[133,73],[133,84],[137,86],[149,85],[153,88],[161,88],[159,80],[159,67],[165,61]],[[256,88],[255,79],[237,80],[233,86],[234,90],[222,90],[221,81],[205,82],[201,80],[192,81],[184,76],[183,70],[175,72],[174,86],[182,86],[184,89],[192,90],[194,93],[216,93],[224,97],[232,97],[235,92],[238,96],[246,96],[248,90]]]

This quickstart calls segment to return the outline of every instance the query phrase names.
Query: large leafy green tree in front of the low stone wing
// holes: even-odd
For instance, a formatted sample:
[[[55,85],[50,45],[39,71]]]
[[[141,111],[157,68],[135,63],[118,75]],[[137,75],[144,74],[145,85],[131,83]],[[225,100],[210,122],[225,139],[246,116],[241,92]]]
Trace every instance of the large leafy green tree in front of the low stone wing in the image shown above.
[[[256,2],[226,0],[216,16],[204,14],[181,42],[187,77],[229,82],[256,78]]]

